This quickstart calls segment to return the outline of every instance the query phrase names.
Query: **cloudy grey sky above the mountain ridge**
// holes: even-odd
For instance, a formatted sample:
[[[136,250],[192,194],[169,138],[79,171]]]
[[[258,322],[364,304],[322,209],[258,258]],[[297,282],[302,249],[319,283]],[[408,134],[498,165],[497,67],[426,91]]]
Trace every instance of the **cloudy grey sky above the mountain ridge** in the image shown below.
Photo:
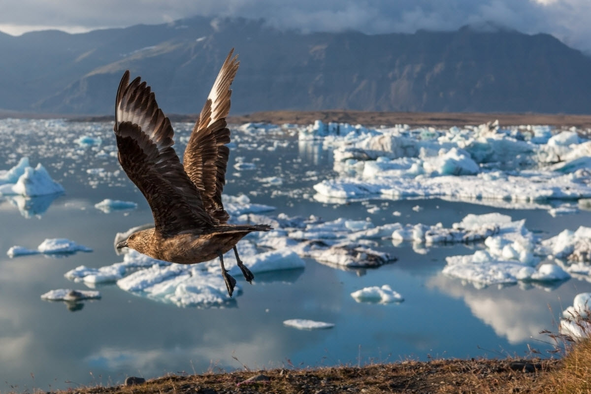
[[[591,54],[591,0],[2,0],[0,30],[43,28],[82,32],[158,24],[193,15],[264,18],[303,31],[360,30],[368,34],[456,30],[493,21],[547,32]]]

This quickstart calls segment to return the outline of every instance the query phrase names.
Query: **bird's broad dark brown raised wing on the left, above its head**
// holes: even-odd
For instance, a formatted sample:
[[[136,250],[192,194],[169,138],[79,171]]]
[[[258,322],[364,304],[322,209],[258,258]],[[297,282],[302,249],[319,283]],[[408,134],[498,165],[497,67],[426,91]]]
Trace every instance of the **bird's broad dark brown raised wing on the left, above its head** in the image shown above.
[[[125,71],[115,104],[119,163],[148,200],[156,230],[164,236],[213,225],[172,148],[173,133],[150,86],[139,77],[129,83]]]

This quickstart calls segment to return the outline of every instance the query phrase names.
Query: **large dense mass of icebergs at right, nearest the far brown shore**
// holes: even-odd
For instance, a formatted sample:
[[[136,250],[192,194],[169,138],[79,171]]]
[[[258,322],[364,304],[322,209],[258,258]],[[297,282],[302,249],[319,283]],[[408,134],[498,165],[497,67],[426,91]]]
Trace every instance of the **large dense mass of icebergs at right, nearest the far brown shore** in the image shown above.
[[[492,123],[463,129],[366,129],[317,121],[300,129],[300,138],[311,136],[336,146],[339,175],[314,185],[314,198],[323,202],[446,197],[550,209],[548,200],[591,196],[591,141],[576,132],[552,135],[547,126],[499,128]],[[554,210],[559,213],[569,210]]]

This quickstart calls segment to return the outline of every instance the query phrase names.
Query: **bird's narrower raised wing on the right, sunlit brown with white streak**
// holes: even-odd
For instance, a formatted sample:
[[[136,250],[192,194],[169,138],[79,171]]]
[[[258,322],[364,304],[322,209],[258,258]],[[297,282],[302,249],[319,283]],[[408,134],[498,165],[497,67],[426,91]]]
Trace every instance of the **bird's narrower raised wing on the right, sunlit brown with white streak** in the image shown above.
[[[226,167],[230,149],[230,131],[226,116],[230,111],[230,84],[238,71],[238,55],[232,49],[213,83],[213,87],[184,152],[184,169],[201,193],[203,206],[216,224],[228,222],[223,209],[222,190],[226,183]]]

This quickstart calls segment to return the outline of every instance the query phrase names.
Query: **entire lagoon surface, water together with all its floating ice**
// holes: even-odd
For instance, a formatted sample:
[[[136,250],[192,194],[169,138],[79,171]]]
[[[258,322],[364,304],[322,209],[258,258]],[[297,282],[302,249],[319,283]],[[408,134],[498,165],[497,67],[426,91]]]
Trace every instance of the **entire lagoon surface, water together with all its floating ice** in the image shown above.
[[[182,157],[193,125],[173,126]],[[112,123],[0,119],[0,382],[75,388],[66,381],[242,368],[234,357],[259,368],[525,355],[547,350],[540,331],[591,292],[583,131],[231,129],[225,207],[233,223],[274,227],[238,245],[252,285],[225,256],[233,298],[217,260],[115,250],[152,217]]]

